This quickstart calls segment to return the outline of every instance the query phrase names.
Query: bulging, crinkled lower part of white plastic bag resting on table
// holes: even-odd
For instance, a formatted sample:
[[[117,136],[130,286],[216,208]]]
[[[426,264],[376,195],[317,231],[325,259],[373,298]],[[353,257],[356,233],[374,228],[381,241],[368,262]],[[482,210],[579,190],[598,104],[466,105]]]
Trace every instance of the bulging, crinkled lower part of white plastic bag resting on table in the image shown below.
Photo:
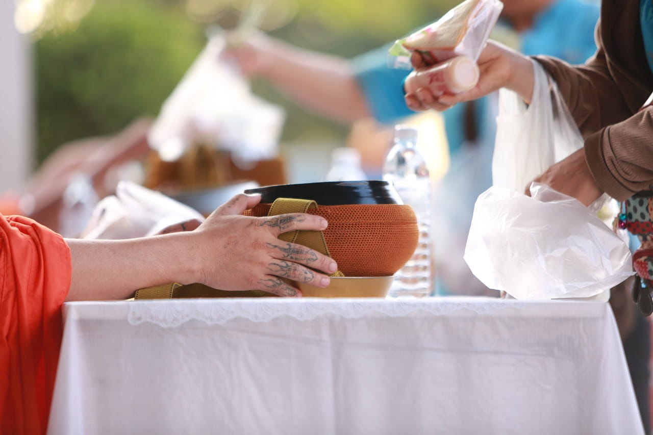
[[[517,299],[607,300],[633,274],[628,246],[577,199],[543,184],[530,190],[479,196],[464,255],[473,274]]]

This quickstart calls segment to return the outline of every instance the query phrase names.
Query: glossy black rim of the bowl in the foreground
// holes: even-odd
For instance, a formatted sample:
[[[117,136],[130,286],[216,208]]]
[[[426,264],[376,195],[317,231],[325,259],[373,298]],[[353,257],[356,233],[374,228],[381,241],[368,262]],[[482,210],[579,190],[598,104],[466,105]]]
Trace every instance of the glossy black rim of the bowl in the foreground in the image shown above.
[[[277,198],[312,199],[321,206],[404,203],[394,186],[381,180],[267,185],[247,189],[245,193],[261,193],[263,203]]]

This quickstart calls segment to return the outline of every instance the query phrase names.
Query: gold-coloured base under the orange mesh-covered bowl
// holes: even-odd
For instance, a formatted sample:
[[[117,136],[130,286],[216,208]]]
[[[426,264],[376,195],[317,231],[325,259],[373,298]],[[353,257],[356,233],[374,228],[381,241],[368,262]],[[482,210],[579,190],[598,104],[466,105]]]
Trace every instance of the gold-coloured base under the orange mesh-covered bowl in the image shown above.
[[[392,285],[392,276],[331,278],[326,288],[297,283],[305,298],[385,298]]]

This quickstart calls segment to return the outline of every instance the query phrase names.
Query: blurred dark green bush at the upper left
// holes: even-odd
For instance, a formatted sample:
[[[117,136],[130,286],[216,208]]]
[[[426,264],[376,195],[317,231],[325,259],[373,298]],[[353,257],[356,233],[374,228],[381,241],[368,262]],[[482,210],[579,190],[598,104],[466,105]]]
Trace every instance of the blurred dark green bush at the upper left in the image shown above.
[[[74,138],[154,116],[204,44],[183,8],[100,0],[74,31],[35,42],[39,163]]]

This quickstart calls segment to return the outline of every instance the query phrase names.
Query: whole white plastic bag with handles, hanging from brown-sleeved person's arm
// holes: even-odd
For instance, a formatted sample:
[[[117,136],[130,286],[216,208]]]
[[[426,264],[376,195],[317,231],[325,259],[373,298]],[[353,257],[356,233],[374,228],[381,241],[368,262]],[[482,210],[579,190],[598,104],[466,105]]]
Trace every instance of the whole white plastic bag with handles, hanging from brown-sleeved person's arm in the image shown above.
[[[476,201],[464,259],[491,289],[518,299],[607,300],[632,272],[628,246],[590,208],[527,185],[583,144],[556,83],[533,61],[533,97],[501,89],[490,187]]]

